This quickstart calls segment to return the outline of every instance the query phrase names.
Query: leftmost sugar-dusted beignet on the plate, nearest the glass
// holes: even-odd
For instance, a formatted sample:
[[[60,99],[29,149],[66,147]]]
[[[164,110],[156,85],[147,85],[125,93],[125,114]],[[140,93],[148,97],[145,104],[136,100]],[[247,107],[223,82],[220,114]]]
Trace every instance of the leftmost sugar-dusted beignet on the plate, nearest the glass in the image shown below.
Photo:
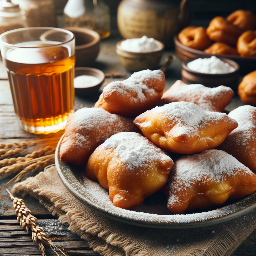
[[[139,131],[132,120],[110,114],[104,109],[82,108],[68,118],[60,144],[60,159],[85,167],[92,152],[118,132]]]

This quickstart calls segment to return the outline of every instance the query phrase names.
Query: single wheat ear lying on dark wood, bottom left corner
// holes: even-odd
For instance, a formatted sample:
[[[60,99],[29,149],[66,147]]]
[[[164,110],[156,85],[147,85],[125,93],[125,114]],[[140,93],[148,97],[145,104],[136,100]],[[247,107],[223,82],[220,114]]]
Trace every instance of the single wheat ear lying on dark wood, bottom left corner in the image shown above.
[[[32,231],[32,239],[34,244],[37,244],[39,250],[41,251],[43,256],[45,255],[45,249],[43,243],[49,244],[52,250],[59,255],[55,248],[61,251],[65,256],[67,256],[61,249],[56,247],[45,235],[44,229],[40,226],[36,225],[37,218],[32,215],[32,212],[27,208],[26,204],[24,203],[23,199],[14,197],[11,192],[6,189],[9,193],[10,197],[13,199],[13,208],[17,216],[17,221],[20,222],[20,226],[22,228],[26,228],[27,232],[29,229]]]

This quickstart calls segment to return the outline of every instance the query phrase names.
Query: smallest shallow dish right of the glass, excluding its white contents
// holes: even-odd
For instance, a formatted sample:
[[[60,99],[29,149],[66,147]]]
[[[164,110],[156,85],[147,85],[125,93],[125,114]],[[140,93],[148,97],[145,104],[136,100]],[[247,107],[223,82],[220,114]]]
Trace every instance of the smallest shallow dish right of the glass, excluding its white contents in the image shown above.
[[[96,93],[105,79],[105,74],[99,69],[84,67],[75,68],[75,77],[82,75],[95,76],[99,79],[99,82],[90,87],[85,84],[85,87],[75,88],[75,94],[79,97],[88,97]]]

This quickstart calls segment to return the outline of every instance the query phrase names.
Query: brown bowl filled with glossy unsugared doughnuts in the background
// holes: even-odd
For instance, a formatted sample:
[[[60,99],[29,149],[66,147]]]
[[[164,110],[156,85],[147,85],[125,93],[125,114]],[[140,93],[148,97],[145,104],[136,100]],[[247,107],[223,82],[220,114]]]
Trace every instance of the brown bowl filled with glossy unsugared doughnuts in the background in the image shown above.
[[[232,35],[221,37],[220,34],[225,34],[221,31],[223,27],[232,31]],[[255,29],[256,15],[251,11],[237,10],[226,19],[215,17],[207,29],[193,26],[184,28],[174,36],[174,47],[183,60],[216,55],[237,62],[240,72],[248,74],[256,70]]]

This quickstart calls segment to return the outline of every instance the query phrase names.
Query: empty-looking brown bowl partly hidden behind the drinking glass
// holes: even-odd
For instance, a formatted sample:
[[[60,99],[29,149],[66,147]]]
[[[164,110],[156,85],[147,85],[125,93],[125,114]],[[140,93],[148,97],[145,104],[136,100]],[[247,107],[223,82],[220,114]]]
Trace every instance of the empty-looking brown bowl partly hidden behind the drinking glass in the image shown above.
[[[76,67],[90,65],[100,51],[100,35],[87,28],[67,27],[76,37]]]

